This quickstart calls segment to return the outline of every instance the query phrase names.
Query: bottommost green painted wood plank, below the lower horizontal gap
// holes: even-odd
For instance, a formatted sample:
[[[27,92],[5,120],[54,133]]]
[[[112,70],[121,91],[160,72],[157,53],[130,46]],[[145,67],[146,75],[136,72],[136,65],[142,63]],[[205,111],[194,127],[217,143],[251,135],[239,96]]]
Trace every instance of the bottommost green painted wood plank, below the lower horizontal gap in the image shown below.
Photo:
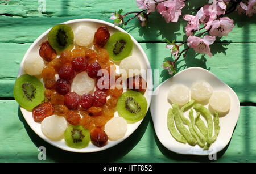
[[[255,112],[256,107],[241,107],[232,139],[214,162],[255,162]],[[43,141],[28,126],[14,100],[0,100],[0,124],[0,162],[209,162],[208,156],[168,151],[156,137],[150,112],[125,141],[91,154],[63,151]],[[46,147],[46,160],[38,159],[40,146]]]

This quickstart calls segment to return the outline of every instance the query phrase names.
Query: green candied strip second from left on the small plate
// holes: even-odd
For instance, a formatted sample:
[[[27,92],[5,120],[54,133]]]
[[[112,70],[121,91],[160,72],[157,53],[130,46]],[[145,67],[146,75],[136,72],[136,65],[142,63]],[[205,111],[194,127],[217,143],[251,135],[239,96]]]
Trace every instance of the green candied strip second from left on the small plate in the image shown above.
[[[183,137],[187,140],[189,145],[195,146],[196,145],[196,139],[192,137],[192,135],[189,133],[188,129],[183,125],[183,121],[181,120],[181,114],[179,105],[174,103],[172,104],[172,112],[174,113],[174,121],[176,124],[177,130],[183,135]]]

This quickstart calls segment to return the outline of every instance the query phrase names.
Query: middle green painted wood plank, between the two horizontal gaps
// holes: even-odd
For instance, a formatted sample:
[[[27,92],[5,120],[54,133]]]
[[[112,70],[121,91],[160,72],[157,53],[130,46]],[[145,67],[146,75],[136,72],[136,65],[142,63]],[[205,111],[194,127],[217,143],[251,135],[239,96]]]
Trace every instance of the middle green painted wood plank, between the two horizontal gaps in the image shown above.
[[[164,58],[170,57],[170,50],[164,43],[140,43],[150,61],[151,69],[158,71],[155,85],[170,78],[166,70],[160,66]],[[0,97],[13,97],[13,85],[18,74],[19,63],[31,43],[0,43]],[[187,57],[177,63],[177,69],[199,66],[212,71],[218,78],[228,84],[238,95],[241,102],[256,102],[256,78],[254,74],[256,48],[255,43],[213,44],[210,46],[213,56],[195,54],[189,49]]]

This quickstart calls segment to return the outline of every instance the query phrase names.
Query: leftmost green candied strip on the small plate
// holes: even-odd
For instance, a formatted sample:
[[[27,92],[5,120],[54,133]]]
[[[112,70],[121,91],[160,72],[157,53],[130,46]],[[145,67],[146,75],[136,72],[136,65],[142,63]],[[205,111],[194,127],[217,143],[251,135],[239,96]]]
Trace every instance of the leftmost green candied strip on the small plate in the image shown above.
[[[183,135],[181,135],[179,133],[179,131],[176,130],[175,125],[174,125],[174,113],[172,113],[172,108],[169,109],[168,111],[168,115],[167,115],[167,126],[168,129],[172,135],[172,137],[174,137],[174,139],[176,139],[178,142],[181,143],[186,143],[186,139],[183,137]]]

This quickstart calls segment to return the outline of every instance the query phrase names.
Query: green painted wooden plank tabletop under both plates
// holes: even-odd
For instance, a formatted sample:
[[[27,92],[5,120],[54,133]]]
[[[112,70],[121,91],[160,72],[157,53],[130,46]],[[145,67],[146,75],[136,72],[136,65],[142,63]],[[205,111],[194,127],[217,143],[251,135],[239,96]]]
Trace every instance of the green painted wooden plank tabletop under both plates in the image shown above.
[[[46,2],[46,12],[38,8]],[[183,15],[191,14],[192,7],[207,1],[191,1]],[[121,144],[92,154],[76,154],[60,150],[43,141],[32,131],[13,97],[13,86],[20,62],[29,46],[44,31],[55,24],[71,19],[94,18],[112,22],[110,14],[119,9],[137,11],[135,0],[9,0],[0,2],[0,162],[256,162],[256,20],[233,12],[235,27],[228,37],[217,39],[213,56],[195,54],[189,49],[177,69],[198,66],[212,71],[238,95],[240,117],[231,141],[218,152],[217,160],[208,156],[179,155],[168,151],[156,137],[150,112],[139,128]],[[159,69],[159,83],[169,78],[160,67],[170,58],[164,39],[182,42],[185,22],[165,23],[155,12],[148,28],[131,20],[124,27],[146,52],[152,69]],[[46,160],[38,159],[38,147],[46,147]],[[117,153],[118,151],[118,153]]]

